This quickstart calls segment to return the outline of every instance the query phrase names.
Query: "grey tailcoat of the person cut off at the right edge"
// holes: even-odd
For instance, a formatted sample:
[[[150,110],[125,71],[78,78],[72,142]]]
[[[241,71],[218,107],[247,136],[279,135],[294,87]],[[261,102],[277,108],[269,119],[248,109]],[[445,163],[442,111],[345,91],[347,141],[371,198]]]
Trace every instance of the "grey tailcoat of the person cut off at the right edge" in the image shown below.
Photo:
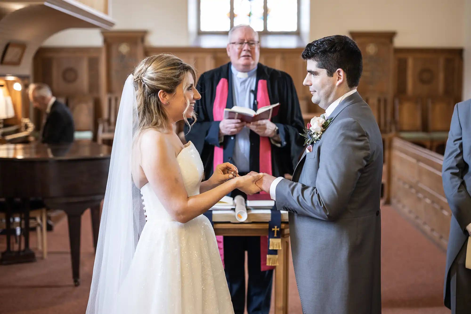
[[[450,308],[450,267],[469,236],[466,226],[471,223],[471,99],[455,105],[443,158],[443,190],[451,216],[448,237],[444,301]],[[470,291],[471,293],[471,291]]]

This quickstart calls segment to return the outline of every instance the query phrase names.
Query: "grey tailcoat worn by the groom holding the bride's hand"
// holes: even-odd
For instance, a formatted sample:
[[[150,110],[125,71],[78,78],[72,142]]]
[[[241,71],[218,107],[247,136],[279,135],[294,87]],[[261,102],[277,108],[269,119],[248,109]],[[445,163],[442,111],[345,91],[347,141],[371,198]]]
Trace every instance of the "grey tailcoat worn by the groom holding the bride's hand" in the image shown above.
[[[381,132],[354,93],[276,186],[304,314],[381,313]]]

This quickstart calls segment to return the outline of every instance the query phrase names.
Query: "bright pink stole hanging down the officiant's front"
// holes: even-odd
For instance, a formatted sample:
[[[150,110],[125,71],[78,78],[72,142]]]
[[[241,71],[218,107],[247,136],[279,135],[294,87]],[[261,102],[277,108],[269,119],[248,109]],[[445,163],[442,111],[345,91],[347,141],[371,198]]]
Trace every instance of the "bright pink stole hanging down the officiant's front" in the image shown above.
[[[221,121],[224,118],[224,108],[227,105],[227,94],[228,94],[228,82],[227,79],[223,78],[219,81],[216,87],[216,97],[212,107],[212,115],[214,121]],[[257,86],[257,103],[258,108],[269,106],[270,99],[268,97],[268,88],[266,80],[259,80]],[[214,147],[214,158],[213,158],[213,169],[219,164],[224,162],[224,149],[221,147]],[[260,172],[272,174],[271,166],[271,144],[268,137],[260,137]],[[260,192],[266,193],[266,192]],[[223,236],[216,236],[218,241],[219,254],[221,256],[222,265],[224,266],[224,241]],[[267,265],[267,254],[268,254],[268,236],[260,237],[260,270],[266,271],[274,269],[275,266]]]

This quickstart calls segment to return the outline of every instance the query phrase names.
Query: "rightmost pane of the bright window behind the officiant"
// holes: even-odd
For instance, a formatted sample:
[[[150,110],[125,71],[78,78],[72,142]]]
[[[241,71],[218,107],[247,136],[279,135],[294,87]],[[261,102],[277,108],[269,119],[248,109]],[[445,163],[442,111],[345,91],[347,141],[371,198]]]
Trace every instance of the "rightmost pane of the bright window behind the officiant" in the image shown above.
[[[298,30],[297,0],[267,0],[268,32],[295,32]]]

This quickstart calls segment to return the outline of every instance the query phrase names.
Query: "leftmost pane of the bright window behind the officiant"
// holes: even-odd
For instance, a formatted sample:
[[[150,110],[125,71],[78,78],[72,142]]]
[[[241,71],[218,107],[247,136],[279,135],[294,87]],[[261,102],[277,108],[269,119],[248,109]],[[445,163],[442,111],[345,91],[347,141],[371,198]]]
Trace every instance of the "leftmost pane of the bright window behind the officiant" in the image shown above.
[[[228,32],[231,29],[231,0],[200,1],[200,30]]]

